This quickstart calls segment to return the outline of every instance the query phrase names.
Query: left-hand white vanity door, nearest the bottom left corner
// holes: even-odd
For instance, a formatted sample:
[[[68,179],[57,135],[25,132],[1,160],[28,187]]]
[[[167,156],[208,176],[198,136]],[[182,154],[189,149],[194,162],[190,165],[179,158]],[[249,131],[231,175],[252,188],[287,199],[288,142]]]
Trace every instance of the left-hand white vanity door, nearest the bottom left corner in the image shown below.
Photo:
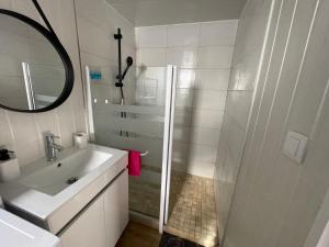
[[[106,247],[103,195],[68,227],[60,242],[63,247]]]

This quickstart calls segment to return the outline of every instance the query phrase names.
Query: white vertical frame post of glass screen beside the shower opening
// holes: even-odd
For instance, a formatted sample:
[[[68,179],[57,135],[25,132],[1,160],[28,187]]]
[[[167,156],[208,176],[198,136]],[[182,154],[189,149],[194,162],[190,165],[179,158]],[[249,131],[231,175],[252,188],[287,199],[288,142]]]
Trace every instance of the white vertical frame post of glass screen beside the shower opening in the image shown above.
[[[161,197],[160,197],[160,215],[159,215],[160,234],[162,234],[163,226],[164,224],[167,224],[168,221],[170,175],[171,175],[171,161],[172,161],[172,136],[173,136],[173,125],[174,125],[177,66],[167,65],[166,81],[167,81],[167,88],[166,88],[166,105],[164,105]]]

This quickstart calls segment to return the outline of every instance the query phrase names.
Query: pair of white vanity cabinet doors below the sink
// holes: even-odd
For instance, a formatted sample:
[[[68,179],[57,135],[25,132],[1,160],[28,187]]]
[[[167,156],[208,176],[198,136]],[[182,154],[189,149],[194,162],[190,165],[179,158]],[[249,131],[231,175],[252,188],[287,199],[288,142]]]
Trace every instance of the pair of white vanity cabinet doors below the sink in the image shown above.
[[[63,247],[114,247],[128,223],[128,172],[124,170],[60,234]]]

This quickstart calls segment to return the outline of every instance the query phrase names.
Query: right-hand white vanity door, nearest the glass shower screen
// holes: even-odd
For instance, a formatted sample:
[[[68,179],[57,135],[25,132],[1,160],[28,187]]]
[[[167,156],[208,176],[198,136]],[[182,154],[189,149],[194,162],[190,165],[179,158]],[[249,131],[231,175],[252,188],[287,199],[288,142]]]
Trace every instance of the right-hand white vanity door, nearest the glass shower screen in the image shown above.
[[[104,193],[106,246],[114,247],[129,221],[128,171],[117,177]]]

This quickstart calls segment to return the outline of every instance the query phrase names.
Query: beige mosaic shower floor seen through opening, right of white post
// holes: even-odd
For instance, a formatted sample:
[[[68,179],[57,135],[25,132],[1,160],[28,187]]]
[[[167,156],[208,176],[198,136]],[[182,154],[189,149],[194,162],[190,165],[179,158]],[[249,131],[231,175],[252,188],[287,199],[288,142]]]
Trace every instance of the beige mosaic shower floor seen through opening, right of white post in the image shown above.
[[[174,172],[170,217],[164,231],[200,245],[216,246],[217,224],[213,179]]]

